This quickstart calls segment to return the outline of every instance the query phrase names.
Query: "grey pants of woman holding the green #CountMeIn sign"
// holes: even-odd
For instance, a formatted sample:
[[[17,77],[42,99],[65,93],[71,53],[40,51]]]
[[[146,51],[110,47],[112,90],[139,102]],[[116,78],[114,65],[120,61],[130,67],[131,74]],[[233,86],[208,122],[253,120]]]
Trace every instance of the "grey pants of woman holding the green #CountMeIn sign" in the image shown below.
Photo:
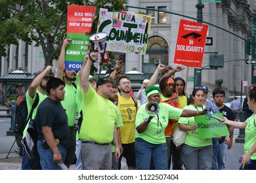
[[[183,144],[181,159],[186,170],[211,170],[213,147],[192,147]]]

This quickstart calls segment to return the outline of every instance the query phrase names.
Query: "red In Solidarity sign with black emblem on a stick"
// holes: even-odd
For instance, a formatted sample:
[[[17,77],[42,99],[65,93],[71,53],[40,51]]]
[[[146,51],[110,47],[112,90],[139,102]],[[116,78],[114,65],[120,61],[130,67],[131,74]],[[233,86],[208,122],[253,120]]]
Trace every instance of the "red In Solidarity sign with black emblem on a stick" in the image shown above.
[[[173,63],[202,67],[208,25],[181,20]]]

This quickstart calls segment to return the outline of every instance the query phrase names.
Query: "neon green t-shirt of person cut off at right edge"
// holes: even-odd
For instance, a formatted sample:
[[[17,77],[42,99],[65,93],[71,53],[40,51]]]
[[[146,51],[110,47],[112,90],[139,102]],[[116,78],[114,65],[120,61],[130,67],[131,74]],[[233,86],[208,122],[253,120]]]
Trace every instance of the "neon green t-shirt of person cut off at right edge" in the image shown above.
[[[245,137],[244,137],[244,153],[249,152],[250,148],[256,142],[256,122],[255,114],[251,115],[247,120],[247,125],[245,127]],[[251,159],[256,159],[256,152],[251,155]]]

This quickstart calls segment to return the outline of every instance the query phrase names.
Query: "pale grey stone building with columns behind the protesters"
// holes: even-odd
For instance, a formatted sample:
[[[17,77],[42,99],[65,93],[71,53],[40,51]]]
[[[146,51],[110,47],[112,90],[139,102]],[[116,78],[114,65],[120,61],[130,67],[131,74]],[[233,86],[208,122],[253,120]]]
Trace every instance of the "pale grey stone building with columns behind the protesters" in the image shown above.
[[[196,22],[196,20],[184,16],[196,18],[197,3],[198,0],[127,0],[127,5],[129,6],[156,8],[175,14],[141,8],[128,8],[130,12],[144,12],[152,16],[152,24],[146,54],[143,56],[125,54],[123,73],[137,70],[150,78],[158,63],[175,67],[173,58],[179,22],[181,19]],[[217,84],[221,84],[227,95],[233,95],[234,93],[240,95],[242,80],[248,81],[248,85],[252,82],[252,66],[245,64],[245,59],[251,58],[251,54],[246,50],[247,42],[245,40],[251,40],[252,38],[251,18],[255,13],[256,3],[249,0],[222,0],[221,3],[203,4],[205,5],[203,8],[203,21],[217,27],[209,25],[207,37],[213,38],[213,46],[205,46],[202,67],[209,68],[207,67],[209,65],[209,56],[213,52],[224,55],[224,67],[217,70],[202,69],[202,84],[209,86],[211,91],[217,87]],[[218,27],[221,27],[221,29]],[[35,73],[35,71],[44,67],[43,51],[41,47],[35,47],[35,43],[26,45],[24,42],[19,41],[18,46],[11,45],[7,49],[7,55],[6,58],[1,58],[2,76],[19,67],[29,73]],[[53,61],[54,68],[56,68],[56,65],[57,62]],[[185,79],[186,69],[189,69],[187,92],[191,94],[195,79],[194,68],[185,67],[183,71],[175,74],[175,76],[181,76]],[[223,82],[220,82],[221,80]],[[246,92],[245,87],[242,87],[242,92]]]

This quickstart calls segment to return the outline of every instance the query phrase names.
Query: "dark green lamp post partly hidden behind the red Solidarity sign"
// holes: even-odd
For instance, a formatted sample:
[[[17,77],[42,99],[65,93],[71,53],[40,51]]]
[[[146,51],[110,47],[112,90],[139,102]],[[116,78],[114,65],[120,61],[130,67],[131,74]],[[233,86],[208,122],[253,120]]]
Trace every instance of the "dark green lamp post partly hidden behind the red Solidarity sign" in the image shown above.
[[[196,8],[198,8],[196,14],[196,21],[200,24],[203,23],[203,8],[204,5],[202,4],[202,0],[198,0],[198,4],[196,4]],[[194,69],[194,87],[200,86],[202,82],[202,69]]]

